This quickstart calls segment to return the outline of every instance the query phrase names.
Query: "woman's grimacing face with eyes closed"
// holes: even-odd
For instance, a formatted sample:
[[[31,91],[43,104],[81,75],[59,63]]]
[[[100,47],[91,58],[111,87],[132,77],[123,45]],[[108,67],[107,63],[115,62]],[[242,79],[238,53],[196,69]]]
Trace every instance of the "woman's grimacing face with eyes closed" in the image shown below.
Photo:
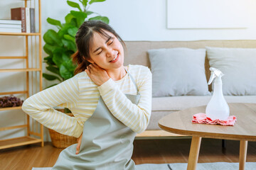
[[[105,30],[110,36],[106,38],[99,33],[93,33],[92,45],[90,47],[91,63],[96,63],[105,70],[118,69],[124,64],[124,48],[114,34]]]

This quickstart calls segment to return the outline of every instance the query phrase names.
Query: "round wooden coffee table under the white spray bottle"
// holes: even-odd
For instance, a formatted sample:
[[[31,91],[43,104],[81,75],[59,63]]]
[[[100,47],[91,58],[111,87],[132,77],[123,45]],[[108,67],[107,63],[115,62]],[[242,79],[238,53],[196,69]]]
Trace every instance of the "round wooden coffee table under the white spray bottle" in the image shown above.
[[[239,169],[245,169],[247,141],[256,141],[256,103],[229,103],[230,115],[235,115],[234,126],[191,123],[196,113],[206,113],[206,106],[188,108],[164,116],[159,127],[168,132],[192,136],[187,169],[196,169],[201,138],[240,140]]]

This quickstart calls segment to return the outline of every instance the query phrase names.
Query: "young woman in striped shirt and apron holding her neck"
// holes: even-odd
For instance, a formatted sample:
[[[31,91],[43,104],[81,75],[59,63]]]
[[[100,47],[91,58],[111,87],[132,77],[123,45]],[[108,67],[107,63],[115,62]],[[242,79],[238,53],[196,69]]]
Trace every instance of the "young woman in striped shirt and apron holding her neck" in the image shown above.
[[[83,23],[75,41],[75,76],[26,99],[22,109],[47,128],[78,137],[53,169],[135,169],[134,137],[151,115],[151,72],[124,67],[124,42],[101,21]],[[55,106],[69,108],[75,117]]]

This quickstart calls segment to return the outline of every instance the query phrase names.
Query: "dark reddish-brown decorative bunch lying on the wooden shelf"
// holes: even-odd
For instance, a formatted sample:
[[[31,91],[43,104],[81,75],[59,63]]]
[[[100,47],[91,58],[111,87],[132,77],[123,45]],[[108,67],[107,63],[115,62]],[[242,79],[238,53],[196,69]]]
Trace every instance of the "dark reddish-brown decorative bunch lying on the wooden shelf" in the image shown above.
[[[13,95],[0,98],[0,108],[22,106],[23,100]]]

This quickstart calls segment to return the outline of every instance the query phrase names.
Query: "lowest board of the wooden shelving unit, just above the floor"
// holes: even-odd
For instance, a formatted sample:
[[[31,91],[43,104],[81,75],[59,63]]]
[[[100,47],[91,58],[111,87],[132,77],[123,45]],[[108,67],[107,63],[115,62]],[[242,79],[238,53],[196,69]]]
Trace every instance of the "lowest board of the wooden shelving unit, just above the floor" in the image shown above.
[[[29,145],[39,142],[42,142],[42,140],[36,139],[35,137],[16,137],[9,140],[0,140],[0,149],[18,147],[22,145]]]

